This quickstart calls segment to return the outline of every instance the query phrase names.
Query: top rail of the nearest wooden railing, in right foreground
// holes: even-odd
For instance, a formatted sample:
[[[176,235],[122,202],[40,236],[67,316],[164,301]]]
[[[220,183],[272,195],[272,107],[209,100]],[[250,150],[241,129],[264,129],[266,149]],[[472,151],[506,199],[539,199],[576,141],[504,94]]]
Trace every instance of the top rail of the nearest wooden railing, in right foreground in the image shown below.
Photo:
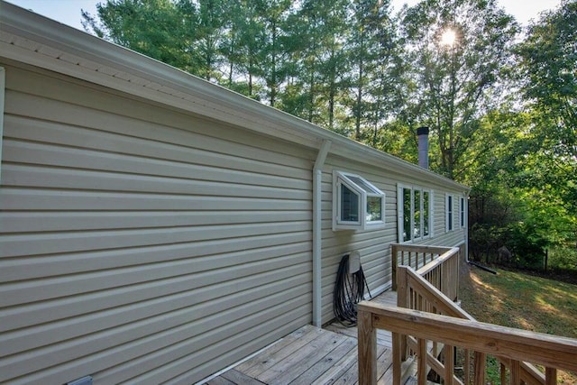
[[[419,338],[453,346],[466,346],[481,353],[577,371],[577,339],[367,301],[361,302],[358,310],[371,314],[374,327],[393,333],[407,334],[410,331],[410,335]]]

